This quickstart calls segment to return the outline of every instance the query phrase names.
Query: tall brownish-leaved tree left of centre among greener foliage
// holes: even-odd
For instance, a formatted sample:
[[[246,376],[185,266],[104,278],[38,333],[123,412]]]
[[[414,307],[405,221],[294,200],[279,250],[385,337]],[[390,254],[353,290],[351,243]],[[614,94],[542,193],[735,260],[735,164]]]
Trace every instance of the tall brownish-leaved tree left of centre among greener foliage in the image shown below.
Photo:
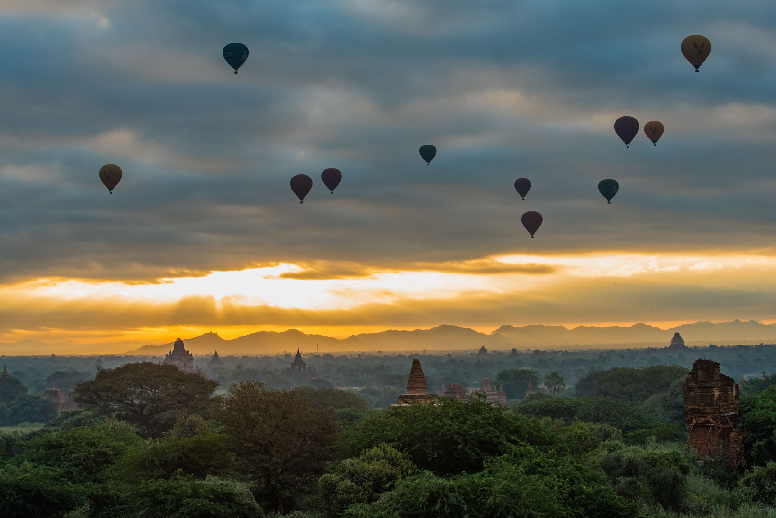
[[[314,488],[337,437],[330,407],[310,405],[300,392],[267,389],[261,382],[230,385],[213,416],[231,439],[235,469],[255,482],[262,506],[279,513]]]

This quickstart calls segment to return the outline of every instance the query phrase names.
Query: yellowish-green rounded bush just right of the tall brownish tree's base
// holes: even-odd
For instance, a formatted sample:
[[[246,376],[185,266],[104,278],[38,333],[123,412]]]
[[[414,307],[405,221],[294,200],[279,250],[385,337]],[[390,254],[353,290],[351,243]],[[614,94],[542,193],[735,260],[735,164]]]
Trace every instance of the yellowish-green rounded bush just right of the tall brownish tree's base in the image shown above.
[[[393,489],[397,480],[414,475],[417,466],[407,454],[378,444],[358,457],[341,461],[334,474],[327,473],[318,481],[321,502],[330,516],[355,503],[376,501],[383,492]]]

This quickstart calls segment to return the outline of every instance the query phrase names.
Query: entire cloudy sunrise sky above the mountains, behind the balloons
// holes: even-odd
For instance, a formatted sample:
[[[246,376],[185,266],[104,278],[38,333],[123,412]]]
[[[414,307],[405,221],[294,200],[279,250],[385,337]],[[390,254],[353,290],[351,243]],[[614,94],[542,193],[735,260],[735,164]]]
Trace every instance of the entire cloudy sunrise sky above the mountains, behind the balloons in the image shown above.
[[[776,320],[772,1],[0,0],[0,46],[0,341]]]

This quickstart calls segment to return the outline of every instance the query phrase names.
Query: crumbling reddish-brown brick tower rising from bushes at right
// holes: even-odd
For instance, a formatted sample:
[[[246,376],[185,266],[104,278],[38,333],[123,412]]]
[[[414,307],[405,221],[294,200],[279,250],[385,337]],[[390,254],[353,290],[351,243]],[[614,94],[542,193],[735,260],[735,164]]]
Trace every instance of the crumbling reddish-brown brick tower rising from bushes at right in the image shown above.
[[[720,374],[719,363],[711,360],[696,360],[682,388],[690,444],[709,457],[724,447],[725,463],[730,466],[743,464],[738,389],[733,378]]]

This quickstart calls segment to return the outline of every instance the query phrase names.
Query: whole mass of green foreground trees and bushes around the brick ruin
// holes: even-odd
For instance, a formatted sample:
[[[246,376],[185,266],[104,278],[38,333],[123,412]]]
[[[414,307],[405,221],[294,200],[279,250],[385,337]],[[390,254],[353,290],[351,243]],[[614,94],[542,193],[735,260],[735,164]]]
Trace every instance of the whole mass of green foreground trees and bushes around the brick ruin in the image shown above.
[[[739,473],[688,449],[686,373],[601,369],[525,397],[541,380],[512,366],[490,375],[523,392],[510,409],[377,410],[361,392],[102,368],[75,385],[81,409],[2,433],[0,515],[776,516],[776,379],[745,384]]]

